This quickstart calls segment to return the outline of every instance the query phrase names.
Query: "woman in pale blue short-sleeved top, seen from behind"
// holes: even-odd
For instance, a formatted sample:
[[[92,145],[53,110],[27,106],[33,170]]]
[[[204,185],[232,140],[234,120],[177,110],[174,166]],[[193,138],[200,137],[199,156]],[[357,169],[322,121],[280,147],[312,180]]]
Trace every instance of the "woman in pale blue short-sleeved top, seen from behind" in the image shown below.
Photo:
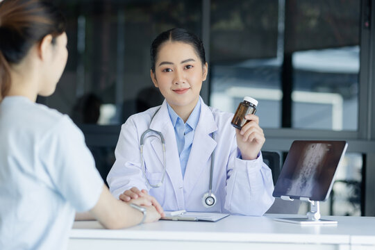
[[[0,1],[0,38],[0,249],[66,249],[75,211],[106,228],[157,221],[152,197],[133,201],[146,212],[115,199],[83,133],[35,103],[53,94],[67,63],[60,12],[42,0]]]

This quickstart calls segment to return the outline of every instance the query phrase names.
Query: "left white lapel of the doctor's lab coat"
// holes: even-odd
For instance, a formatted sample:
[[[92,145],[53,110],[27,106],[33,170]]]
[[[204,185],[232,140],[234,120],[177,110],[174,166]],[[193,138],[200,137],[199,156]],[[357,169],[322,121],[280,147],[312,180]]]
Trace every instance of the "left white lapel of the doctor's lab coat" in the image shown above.
[[[174,134],[174,128],[172,126],[171,119],[169,118],[166,101],[163,102],[162,106],[160,106],[160,110],[158,110],[158,113],[156,113],[155,117],[153,117],[153,120],[150,124],[150,128],[163,133],[163,137],[165,140],[167,174],[172,182],[175,194],[177,196],[178,190],[181,189],[183,186],[183,179],[181,173],[180,159],[178,157],[176,135]],[[157,146],[153,144],[152,146],[154,150],[158,149],[158,147],[160,148],[160,145]],[[157,155],[160,162],[163,163],[163,151],[161,153],[157,153]],[[180,204],[180,201],[178,201],[178,203],[178,206],[183,206],[182,204]]]

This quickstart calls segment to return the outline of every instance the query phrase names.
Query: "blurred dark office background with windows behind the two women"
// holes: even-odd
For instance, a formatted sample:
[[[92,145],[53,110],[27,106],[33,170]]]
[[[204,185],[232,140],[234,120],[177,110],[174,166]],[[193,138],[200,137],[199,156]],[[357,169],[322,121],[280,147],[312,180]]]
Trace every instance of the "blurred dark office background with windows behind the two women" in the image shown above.
[[[245,95],[258,99],[263,149],[281,165],[293,140],[347,140],[322,214],[375,216],[375,2],[54,2],[67,15],[69,59],[56,93],[38,101],[83,130],[103,178],[121,124],[163,101],[150,79],[153,38],[181,27],[205,44],[206,103],[233,113]]]

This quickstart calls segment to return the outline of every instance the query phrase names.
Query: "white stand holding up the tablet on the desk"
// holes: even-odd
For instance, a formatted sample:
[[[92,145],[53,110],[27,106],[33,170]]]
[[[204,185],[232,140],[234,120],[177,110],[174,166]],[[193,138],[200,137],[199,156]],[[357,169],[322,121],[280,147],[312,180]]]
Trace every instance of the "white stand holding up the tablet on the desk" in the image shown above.
[[[294,200],[288,196],[281,196],[280,198],[286,201]],[[278,222],[289,222],[294,224],[338,224],[337,221],[320,219],[319,201],[311,201],[307,197],[300,197],[299,199],[310,203],[310,211],[306,214],[307,218],[275,218],[275,220]]]

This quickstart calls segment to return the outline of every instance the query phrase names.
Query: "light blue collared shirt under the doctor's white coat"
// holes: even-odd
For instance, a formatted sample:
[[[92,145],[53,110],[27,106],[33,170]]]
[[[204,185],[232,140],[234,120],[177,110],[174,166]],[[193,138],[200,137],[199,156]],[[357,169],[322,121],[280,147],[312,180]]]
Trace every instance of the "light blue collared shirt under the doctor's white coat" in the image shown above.
[[[179,117],[173,108],[167,103],[169,117],[171,117],[172,125],[174,126],[174,133],[176,134],[176,142],[178,148],[178,156],[180,156],[181,173],[185,176],[186,165],[192,150],[192,142],[194,139],[195,128],[199,122],[199,115],[201,115],[201,100],[198,100],[197,105],[190,114],[188,121],[183,123],[183,119]]]

